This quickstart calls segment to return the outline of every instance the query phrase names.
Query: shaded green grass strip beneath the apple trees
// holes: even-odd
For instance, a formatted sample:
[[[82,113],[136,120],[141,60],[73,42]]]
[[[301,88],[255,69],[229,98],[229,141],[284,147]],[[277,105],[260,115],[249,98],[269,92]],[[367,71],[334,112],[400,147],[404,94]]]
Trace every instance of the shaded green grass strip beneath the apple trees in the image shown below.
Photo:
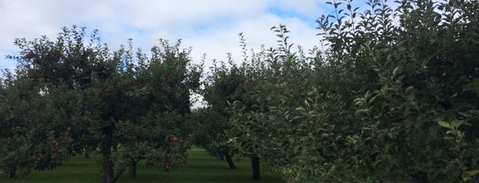
[[[76,157],[50,171],[34,171],[25,177],[4,179],[0,182],[101,182],[99,157]],[[228,163],[208,156],[205,150],[194,147],[188,152],[186,167],[163,171],[162,165],[147,167],[138,164],[137,178],[130,179],[125,171],[118,182],[282,182],[277,173],[270,173],[269,168],[261,167],[261,180],[252,180],[251,161],[248,158],[234,158],[236,169],[230,169]]]

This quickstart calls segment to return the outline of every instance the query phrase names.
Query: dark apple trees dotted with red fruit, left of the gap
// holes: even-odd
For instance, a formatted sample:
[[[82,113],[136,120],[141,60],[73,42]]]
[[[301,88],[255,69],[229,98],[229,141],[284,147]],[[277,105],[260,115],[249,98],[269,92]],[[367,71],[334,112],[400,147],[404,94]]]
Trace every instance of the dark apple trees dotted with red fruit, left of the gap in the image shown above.
[[[71,156],[99,152],[103,182],[115,182],[146,160],[165,169],[184,163],[184,128],[201,66],[180,42],[151,53],[131,42],[110,53],[94,31],[64,28],[21,49],[16,74],[1,81],[1,169],[7,177],[52,169]]]

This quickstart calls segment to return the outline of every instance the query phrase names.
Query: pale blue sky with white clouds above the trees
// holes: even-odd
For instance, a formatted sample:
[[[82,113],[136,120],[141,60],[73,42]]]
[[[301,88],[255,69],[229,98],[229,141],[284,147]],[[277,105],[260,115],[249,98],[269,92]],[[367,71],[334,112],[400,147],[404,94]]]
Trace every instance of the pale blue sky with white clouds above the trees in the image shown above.
[[[201,1],[106,1],[106,0],[0,0],[0,68],[14,68],[19,49],[15,38],[33,40],[42,35],[54,40],[61,27],[78,25],[99,29],[103,42],[116,50],[132,38],[143,50],[158,45],[158,39],[192,46],[195,62],[203,53],[207,61],[225,60],[225,53],[241,57],[238,33],[244,33],[248,48],[275,46],[273,26],[286,25],[291,43],[312,48],[319,43],[315,20],[331,12],[322,0],[201,0]]]

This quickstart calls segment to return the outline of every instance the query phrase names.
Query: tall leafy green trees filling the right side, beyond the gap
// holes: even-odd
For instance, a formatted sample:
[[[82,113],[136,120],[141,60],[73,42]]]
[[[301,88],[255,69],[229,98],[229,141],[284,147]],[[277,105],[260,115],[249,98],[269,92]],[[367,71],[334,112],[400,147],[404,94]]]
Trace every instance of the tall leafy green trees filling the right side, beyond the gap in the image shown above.
[[[255,179],[261,158],[287,182],[479,181],[479,3],[328,4],[323,48],[291,51],[280,25],[278,48],[247,54],[240,35],[243,63],[213,66],[210,150]]]

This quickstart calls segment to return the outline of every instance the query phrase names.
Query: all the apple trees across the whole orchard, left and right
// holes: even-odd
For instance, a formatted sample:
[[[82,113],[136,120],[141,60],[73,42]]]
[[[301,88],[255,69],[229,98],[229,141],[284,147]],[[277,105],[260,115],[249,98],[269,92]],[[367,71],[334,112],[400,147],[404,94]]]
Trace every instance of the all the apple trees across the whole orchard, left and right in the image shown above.
[[[180,40],[111,51],[84,27],[16,39],[0,87],[6,178],[101,156],[101,181],[186,166],[192,145],[286,182],[478,182],[479,3],[331,1],[321,47],[288,42],[194,64]],[[293,49],[294,46],[294,49]],[[294,51],[293,51],[294,50]],[[191,109],[193,94],[206,107]]]

